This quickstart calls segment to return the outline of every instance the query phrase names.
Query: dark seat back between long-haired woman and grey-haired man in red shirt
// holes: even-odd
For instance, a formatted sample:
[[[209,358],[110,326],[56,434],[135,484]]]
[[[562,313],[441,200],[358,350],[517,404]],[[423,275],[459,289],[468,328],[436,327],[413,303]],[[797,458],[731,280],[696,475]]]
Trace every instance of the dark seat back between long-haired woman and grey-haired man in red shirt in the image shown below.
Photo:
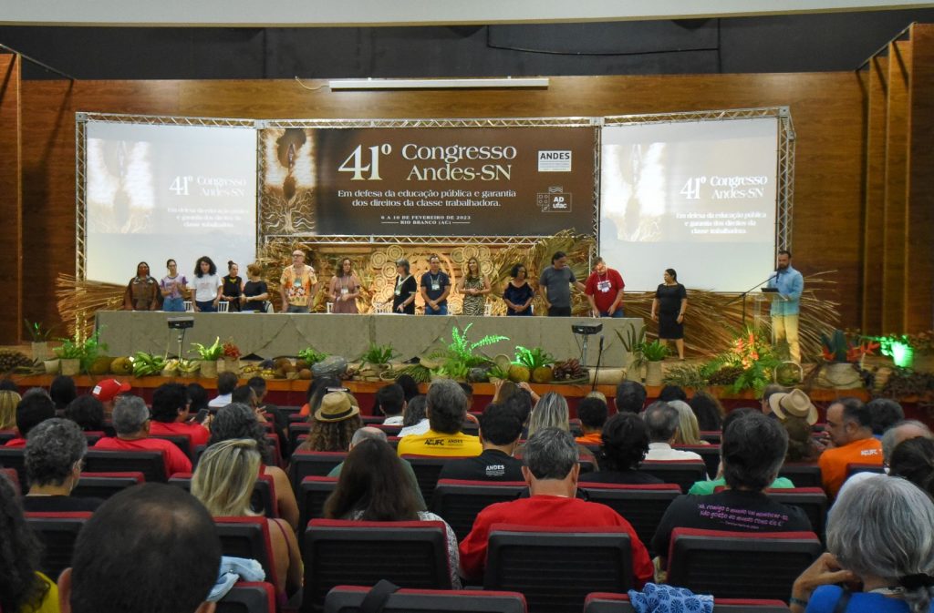
[[[477,513],[498,502],[516,500],[529,491],[524,481],[457,481],[442,479],[434,488],[432,511],[463,540],[474,527]]]

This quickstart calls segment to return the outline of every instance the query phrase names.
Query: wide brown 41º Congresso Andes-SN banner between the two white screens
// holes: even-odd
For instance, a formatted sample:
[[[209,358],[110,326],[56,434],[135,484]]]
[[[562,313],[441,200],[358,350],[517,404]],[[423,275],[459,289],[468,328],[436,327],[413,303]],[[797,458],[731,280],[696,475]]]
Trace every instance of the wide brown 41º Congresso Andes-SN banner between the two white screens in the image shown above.
[[[268,235],[592,231],[594,127],[266,128]]]

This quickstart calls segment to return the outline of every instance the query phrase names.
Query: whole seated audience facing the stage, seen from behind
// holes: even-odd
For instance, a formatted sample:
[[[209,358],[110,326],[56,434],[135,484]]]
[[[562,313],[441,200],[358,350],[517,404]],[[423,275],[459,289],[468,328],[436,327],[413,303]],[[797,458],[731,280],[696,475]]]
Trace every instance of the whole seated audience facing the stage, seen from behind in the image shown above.
[[[727,413],[714,397],[688,401],[674,387],[646,407],[642,385],[624,382],[616,390],[616,411],[601,395],[589,395],[578,405],[577,425],[564,397],[537,397],[528,385],[498,386],[476,418],[468,411],[469,388],[439,380],[421,396],[402,378],[375,395],[382,424],[364,425],[357,399],[339,381],[324,378],[309,386],[306,404],[295,411],[307,423],[306,438],[290,440],[289,415],[265,402],[262,379],[237,383],[235,377],[219,380],[218,397],[210,401],[196,383],[165,383],[154,391],[151,409],[116,380],[97,384],[87,396],[64,382],[54,386],[54,395],[40,388],[22,397],[0,391],[0,418],[16,429],[6,448],[23,448],[26,476],[18,495],[0,475],[0,568],[8,569],[0,571],[0,610],[212,611],[207,594],[218,578],[221,550],[212,518],[263,515],[275,568],[267,580],[279,606],[295,606],[306,577],[297,483],[283,469],[292,449],[345,454],[328,474],[333,493],[320,517],[440,522],[455,589],[484,582],[495,524],[625,532],[629,579],[637,588],[666,579],[678,528],[811,532],[815,526],[804,510],[770,492],[795,487],[793,474],[780,476],[786,465],[816,466],[832,502],[827,552],[801,569],[789,594],[791,609],[931,610],[934,436],[926,425],[906,421],[890,400],[839,398],[827,408],[825,429],[815,431],[818,411],[800,390],[770,386],[760,408]],[[468,433],[474,427],[476,436]],[[654,470],[658,465],[697,467],[704,462],[699,452],[717,451],[707,439],[719,440],[716,471],[704,465],[707,476],[684,485],[687,494],[660,513],[651,539],[643,542],[625,510],[588,500],[588,488],[658,486],[664,474]],[[72,495],[89,447],[159,452],[165,476],[189,479],[191,495],[158,483],[106,500]],[[524,483],[528,494],[480,510],[459,543],[446,518],[429,510],[432,499],[423,496],[413,456],[440,460],[439,480]],[[871,472],[853,474],[855,465]],[[259,480],[270,483],[275,516],[255,496]],[[50,511],[92,512],[71,567],[58,578],[39,572],[41,547],[23,516]],[[177,568],[185,573],[173,572]],[[838,587],[842,583],[861,584],[861,590],[851,594]]]

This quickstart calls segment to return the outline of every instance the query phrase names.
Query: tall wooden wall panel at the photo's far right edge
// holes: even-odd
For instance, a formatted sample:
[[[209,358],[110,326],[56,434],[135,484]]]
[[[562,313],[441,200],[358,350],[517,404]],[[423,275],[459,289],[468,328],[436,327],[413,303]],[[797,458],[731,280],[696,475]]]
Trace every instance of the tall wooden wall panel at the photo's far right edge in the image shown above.
[[[912,26],[905,329],[934,327],[934,24]]]

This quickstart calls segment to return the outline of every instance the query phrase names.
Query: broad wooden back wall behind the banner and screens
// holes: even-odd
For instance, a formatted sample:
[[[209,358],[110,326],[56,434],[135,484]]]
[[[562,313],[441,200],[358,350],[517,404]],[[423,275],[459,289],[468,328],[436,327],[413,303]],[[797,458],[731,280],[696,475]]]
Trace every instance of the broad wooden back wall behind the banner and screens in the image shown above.
[[[307,85],[317,88],[324,81]],[[805,274],[836,274],[843,324],[858,326],[863,235],[863,96],[853,73],[552,77],[546,91],[348,91],[294,81],[26,82],[27,315],[57,317],[54,282],[74,271],[76,111],[232,118],[600,116],[788,105],[797,132],[793,244]],[[827,237],[840,237],[828,243]],[[31,274],[33,263],[30,263]],[[656,264],[652,264],[656,265]],[[132,264],[130,265],[132,268]],[[625,265],[621,268],[625,272]],[[133,271],[128,268],[127,278]],[[729,272],[724,272],[729,273]]]

